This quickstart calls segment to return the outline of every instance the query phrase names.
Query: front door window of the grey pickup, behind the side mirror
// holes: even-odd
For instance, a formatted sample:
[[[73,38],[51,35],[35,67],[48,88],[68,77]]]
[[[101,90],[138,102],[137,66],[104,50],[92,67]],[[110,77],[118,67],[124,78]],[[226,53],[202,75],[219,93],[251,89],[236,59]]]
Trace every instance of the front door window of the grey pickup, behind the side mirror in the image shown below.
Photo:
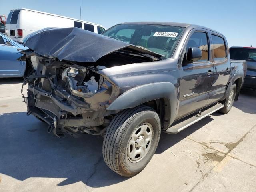
[[[209,60],[209,44],[208,36],[205,32],[195,32],[188,40],[187,51],[189,47],[197,47],[202,51],[202,58],[200,61]]]

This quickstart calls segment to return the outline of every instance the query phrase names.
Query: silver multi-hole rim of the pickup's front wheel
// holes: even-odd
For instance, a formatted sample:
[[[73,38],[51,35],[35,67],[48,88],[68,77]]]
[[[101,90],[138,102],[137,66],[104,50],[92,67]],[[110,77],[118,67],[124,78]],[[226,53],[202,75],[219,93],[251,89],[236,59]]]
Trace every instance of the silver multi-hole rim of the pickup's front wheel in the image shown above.
[[[153,127],[148,122],[141,124],[132,132],[127,147],[130,162],[137,163],[148,154],[152,138]]]

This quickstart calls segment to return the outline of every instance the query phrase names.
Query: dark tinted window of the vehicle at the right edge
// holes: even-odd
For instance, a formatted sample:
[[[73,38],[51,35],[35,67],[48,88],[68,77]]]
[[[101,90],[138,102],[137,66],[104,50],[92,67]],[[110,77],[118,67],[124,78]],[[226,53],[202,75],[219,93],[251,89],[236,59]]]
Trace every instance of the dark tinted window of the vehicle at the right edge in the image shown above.
[[[251,48],[230,48],[230,59],[236,60],[255,60],[256,61],[256,49]]]

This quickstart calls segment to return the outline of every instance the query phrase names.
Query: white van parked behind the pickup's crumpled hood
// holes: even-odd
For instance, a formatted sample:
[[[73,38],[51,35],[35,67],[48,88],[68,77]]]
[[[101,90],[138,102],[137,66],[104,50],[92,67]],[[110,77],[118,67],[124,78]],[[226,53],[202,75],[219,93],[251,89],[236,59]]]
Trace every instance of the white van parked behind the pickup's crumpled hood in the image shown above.
[[[10,10],[5,34],[14,41],[22,42],[26,35],[46,27],[78,27],[99,34],[106,30],[95,23],[22,8]]]

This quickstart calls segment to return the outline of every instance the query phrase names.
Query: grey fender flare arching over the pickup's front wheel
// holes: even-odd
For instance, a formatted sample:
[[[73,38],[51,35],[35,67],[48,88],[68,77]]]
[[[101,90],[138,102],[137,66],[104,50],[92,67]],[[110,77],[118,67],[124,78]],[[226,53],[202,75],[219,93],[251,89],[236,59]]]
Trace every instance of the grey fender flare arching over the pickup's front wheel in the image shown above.
[[[174,84],[170,82],[157,82],[140,85],[121,94],[107,110],[123,110],[134,108],[148,101],[167,98],[170,101],[169,126],[176,117],[178,97]]]

